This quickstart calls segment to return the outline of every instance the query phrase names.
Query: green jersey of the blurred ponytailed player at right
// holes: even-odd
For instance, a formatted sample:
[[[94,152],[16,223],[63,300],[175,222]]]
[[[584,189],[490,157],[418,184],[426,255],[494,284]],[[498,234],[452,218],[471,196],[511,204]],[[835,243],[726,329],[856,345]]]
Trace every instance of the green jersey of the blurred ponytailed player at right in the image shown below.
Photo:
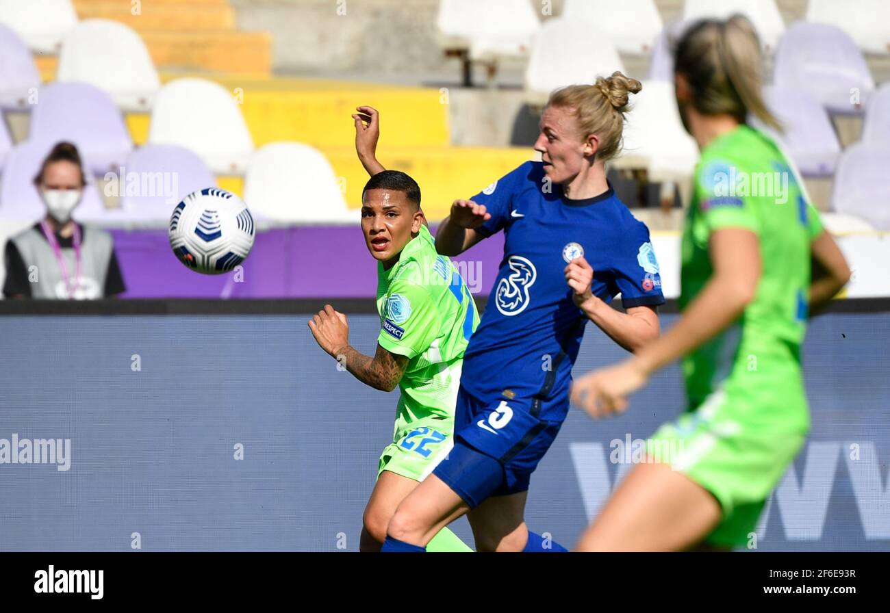
[[[748,125],[720,135],[701,152],[684,226],[680,308],[713,274],[708,238],[715,230],[753,231],[762,273],[740,319],[684,359],[690,408],[729,386],[751,399],[752,413],[788,407],[791,421],[808,423],[800,344],[810,243],[822,227],[798,181],[776,143]]]

